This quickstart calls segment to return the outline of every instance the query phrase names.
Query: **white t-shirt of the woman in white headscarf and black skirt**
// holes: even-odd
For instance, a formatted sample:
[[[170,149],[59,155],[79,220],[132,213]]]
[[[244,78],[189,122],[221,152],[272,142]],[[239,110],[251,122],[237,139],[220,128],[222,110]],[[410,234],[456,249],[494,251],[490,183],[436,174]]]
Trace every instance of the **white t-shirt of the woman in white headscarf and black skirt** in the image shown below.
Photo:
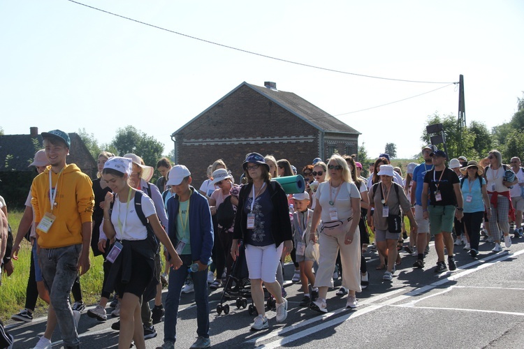
[[[146,218],[152,214],[157,214],[153,200],[145,194],[142,195],[142,211]],[[144,240],[147,238],[147,228],[142,224],[135,211],[134,195],[129,202],[120,202],[118,198],[115,198],[115,204],[112,207],[111,223],[115,227],[115,232],[117,232],[116,238],[119,240]]]

